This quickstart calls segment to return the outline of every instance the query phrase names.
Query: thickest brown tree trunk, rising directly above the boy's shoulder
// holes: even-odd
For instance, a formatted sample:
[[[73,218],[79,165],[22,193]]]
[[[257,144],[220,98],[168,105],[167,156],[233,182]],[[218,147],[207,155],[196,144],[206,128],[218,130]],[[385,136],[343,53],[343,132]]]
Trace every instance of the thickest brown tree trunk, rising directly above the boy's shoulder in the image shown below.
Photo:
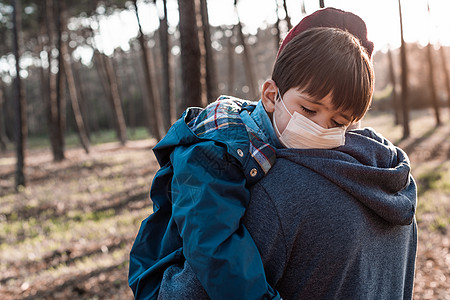
[[[182,109],[189,106],[202,106],[201,52],[195,0],[178,0],[180,13],[181,80]]]

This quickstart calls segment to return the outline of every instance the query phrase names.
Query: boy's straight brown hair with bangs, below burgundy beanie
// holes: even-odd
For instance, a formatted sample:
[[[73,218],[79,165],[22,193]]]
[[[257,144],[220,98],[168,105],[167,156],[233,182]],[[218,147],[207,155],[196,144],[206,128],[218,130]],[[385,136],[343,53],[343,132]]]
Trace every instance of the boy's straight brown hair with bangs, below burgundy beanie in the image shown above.
[[[293,37],[278,55],[272,72],[280,93],[290,88],[322,99],[350,114],[364,117],[374,89],[367,51],[352,34],[337,28],[311,28]]]

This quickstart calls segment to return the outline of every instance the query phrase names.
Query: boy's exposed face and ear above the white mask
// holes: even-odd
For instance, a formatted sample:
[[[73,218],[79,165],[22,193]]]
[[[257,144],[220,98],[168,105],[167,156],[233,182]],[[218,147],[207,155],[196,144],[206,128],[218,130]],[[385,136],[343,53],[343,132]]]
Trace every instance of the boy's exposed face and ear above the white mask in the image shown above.
[[[266,83],[268,83],[267,86]],[[272,114],[275,114],[280,132],[284,131],[291,118],[290,114],[293,115],[295,111],[323,128],[348,127],[352,123],[350,114],[334,108],[331,103],[331,94],[322,99],[315,99],[300,89],[291,88],[281,95],[285,108],[280,101],[275,83],[272,80],[268,80],[266,83],[263,86],[262,101],[272,122]]]

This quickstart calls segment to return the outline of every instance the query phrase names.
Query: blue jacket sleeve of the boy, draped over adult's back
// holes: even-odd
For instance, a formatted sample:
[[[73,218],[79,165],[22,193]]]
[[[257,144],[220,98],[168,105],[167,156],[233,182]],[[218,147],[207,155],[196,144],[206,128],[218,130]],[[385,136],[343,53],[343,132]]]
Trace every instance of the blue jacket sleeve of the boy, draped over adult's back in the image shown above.
[[[212,299],[280,299],[241,223],[249,190],[241,168],[213,141],[172,153],[172,209],[183,251]]]

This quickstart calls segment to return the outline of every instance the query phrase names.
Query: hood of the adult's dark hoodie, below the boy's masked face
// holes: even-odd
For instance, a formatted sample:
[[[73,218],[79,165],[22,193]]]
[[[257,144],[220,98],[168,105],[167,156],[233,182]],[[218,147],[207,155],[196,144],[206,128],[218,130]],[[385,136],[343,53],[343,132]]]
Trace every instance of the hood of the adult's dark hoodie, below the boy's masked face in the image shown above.
[[[319,173],[389,223],[411,224],[417,196],[406,153],[371,128],[345,138],[335,149],[280,149],[277,157]]]

